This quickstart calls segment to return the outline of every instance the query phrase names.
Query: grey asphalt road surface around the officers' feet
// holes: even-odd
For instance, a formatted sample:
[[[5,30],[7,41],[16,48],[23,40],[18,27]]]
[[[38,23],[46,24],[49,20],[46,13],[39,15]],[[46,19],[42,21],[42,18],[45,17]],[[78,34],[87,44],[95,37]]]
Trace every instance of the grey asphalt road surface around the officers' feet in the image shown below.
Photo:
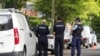
[[[76,52],[77,53],[77,52]],[[69,49],[64,49],[64,56],[71,56],[71,50]],[[48,53],[48,56],[55,56],[55,55],[51,55],[50,53]],[[100,43],[98,44],[97,47],[95,47],[95,49],[93,48],[82,48],[81,51],[81,56],[100,56]]]

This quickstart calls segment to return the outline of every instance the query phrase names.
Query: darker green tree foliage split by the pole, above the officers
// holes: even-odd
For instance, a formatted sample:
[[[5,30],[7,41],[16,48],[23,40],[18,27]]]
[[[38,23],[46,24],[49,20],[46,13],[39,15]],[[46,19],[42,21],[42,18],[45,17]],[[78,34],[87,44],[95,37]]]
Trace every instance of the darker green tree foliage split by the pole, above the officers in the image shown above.
[[[83,0],[55,0],[55,15],[62,16],[63,20],[72,19],[77,17],[84,6],[81,4]],[[38,0],[35,7],[41,11],[47,18],[51,17],[51,3],[52,0]],[[69,19],[69,20],[70,20]]]

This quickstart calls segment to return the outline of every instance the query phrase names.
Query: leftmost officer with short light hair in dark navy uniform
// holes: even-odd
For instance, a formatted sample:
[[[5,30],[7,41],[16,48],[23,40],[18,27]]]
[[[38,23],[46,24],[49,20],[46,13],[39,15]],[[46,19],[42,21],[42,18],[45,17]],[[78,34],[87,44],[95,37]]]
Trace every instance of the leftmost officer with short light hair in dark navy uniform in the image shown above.
[[[47,56],[47,51],[48,51],[47,34],[49,34],[50,31],[45,23],[46,20],[42,20],[42,23],[37,27],[36,30],[36,36],[38,37],[39,56],[42,56],[42,51],[43,55]]]

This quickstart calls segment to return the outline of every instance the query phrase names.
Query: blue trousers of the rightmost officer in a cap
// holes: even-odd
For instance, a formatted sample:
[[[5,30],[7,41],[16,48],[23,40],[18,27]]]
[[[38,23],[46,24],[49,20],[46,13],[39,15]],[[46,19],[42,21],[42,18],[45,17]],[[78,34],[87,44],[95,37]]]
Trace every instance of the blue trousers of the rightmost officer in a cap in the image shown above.
[[[81,54],[81,36],[73,36],[71,43],[71,56],[75,55],[75,49],[77,49],[77,56]]]

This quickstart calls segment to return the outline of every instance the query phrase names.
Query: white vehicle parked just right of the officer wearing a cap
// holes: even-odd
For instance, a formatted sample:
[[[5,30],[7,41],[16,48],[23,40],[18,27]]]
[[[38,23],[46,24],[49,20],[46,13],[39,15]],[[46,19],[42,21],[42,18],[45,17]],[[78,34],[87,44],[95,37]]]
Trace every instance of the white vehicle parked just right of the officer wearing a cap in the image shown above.
[[[92,47],[93,45],[97,45],[97,37],[93,29],[90,26],[84,26],[83,28],[84,28],[82,32],[83,46],[88,48]]]

